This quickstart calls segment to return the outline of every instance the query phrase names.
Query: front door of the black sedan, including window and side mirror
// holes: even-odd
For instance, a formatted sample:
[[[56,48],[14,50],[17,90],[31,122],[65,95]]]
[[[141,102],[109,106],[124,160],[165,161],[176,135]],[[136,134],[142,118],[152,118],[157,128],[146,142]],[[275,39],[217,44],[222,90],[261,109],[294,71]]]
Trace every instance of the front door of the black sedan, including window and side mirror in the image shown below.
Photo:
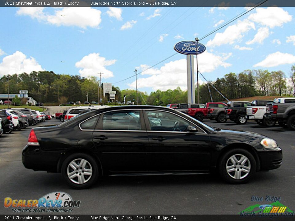
[[[209,169],[210,138],[205,131],[171,112],[144,110],[144,117],[150,142],[149,171],[193,172]],[[198,131],[188,132],[188,126],[194,126]]]

